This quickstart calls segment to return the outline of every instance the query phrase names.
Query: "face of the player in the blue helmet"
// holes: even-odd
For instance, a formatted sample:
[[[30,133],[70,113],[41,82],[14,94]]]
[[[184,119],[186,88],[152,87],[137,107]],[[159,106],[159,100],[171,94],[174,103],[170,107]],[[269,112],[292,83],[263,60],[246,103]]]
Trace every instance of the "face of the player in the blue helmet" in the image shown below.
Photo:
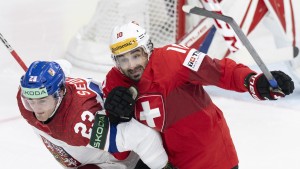
[[[39,121],[46,121],[52,115],[58,99],[52,95],[40,99],[26,99],[30,108]]]

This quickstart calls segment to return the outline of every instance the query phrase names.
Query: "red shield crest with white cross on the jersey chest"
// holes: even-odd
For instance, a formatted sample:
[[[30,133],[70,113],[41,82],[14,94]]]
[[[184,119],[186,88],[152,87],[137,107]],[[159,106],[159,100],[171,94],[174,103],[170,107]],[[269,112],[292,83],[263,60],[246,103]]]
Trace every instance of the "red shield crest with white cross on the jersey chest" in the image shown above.
[[[143,95],[136,101],[136,118],[143,124],[162,131],[165,110],[161,95]]]

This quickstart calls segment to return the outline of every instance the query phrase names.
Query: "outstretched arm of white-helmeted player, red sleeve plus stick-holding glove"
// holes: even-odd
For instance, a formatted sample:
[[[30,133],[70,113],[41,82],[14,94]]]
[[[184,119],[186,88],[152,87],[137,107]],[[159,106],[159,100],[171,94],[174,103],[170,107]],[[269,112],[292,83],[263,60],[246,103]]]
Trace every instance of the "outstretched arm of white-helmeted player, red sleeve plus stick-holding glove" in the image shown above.
[[[265,76],[257,74],[243,64],[237,64],[228,58],[213,59],[195,49],[184,48],[180,45],[169,46],[167,49],[171,50],[166,50],[168,52],[166,55],[176,55],[176,60],[179,61],[172,65],[182,65],[176,71],[180,75],[179,80],[202,85],[215,85],[238,92],[249,91],[254,98],[259,100],[277,99],[272,96]],[[272,71],[272,74],[283,91],[283,97],[293,92],[294,83],[287,74],[281,71]]]

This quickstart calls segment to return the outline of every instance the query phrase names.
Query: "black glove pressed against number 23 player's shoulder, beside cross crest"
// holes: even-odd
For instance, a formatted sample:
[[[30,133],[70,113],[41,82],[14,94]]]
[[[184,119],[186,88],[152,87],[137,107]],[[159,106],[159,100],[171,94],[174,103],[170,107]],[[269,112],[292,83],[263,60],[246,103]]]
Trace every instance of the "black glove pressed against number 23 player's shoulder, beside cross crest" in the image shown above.
[[[104,108],[111,123],[127,122],[134,116],[134,104],[137,97],[135,87],[116,87],[106,97]]]

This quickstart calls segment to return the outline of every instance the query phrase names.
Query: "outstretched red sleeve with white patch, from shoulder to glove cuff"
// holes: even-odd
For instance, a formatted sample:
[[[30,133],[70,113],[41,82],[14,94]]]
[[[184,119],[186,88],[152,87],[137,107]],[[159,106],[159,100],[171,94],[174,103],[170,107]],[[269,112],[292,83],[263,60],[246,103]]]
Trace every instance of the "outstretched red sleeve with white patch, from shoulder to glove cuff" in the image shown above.
[[[176,51],[177,48],[181,50]],[[245,92],[247,89],[244,86],[244,79],[248,74],[255,73],[247,66],[237,64],[231,59],[213,59],[193,48],[173,45],[167,47],[165,52],[164,55],[176,56],[173,61],[176,63],[167,63],[169,68],[176,72],[176,78],[183,83],[215,85],[228,90]]]

